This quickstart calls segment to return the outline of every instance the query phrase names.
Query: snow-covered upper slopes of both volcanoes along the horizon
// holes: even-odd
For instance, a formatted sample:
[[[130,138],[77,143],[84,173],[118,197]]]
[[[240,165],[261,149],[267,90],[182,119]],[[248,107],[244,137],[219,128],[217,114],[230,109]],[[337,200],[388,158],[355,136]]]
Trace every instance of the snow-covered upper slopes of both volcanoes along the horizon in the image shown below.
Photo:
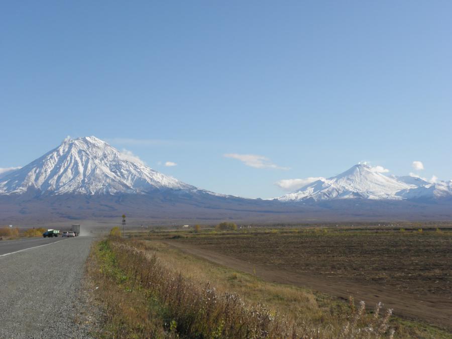
[[[452,181],[429,182],[413,176],[386,176],[381,166],[357,164],[330,178],[319,178],[275,199],[280,203],[320,202],[340,199],[437,200],[452,198]],[[26,194],[27,193],[27,194]],[[137,157],[120,152],[96,137],[65,139],[61,145],[28,165],[0,178],[2,195],[158,195],[204,201],[213,197],[247,199],[210,192],[160,173]],[[196,198],[195,198],[196,196]],[[201,198],[202,196],[202,198]],[[165,199],[165,198],[163,198]],[[263,200],[261,200],[263,201]]]

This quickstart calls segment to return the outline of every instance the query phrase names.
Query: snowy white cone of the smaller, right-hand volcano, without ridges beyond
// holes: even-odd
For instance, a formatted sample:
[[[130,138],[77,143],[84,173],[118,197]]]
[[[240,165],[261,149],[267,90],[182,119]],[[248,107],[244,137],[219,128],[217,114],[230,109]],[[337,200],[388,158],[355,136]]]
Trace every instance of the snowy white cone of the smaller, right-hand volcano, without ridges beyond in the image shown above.
[[[417,187],[387,177],[368,165],[359,164],[337,176],[314,181],[293,193],[283,195],[278,200],[302,201],[312,199],[319,201],[345,198],[400,200],[404,197],[398,195],[398,192]]]

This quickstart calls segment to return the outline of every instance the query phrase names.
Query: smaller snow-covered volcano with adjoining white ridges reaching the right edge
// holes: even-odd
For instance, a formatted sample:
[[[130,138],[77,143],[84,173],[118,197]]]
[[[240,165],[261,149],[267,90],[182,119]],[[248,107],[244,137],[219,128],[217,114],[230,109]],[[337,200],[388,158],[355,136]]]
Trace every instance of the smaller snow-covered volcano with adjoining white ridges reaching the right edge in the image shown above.
[[[332,200],[364,198],[402,200],[452,195],[452,184],[431,183],[415,177],[388,177],[366,164],[358,164],[337,176],[319,179],[293,193],[279,197],[280,201]]]

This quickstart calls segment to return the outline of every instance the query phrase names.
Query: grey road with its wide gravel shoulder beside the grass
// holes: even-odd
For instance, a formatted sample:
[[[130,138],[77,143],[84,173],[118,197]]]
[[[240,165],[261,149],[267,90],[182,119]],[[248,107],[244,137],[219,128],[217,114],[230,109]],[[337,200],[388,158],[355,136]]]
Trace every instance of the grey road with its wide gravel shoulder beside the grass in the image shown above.
[[[0,256],[0,338],[88,337],[89,328],[76,319],[83,309],[79,290],[91,241],[77,237],[0,244],[16,251],[49,244]]]

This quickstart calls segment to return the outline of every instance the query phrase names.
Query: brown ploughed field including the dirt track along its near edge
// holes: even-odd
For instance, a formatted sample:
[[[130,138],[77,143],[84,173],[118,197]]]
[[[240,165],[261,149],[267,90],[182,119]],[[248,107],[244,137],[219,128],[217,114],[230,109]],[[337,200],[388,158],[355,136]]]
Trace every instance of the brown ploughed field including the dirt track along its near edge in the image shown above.
[[[452,235],[435,232],[237,234],[169,242],[273,282],[310,287],[452,328]]]

